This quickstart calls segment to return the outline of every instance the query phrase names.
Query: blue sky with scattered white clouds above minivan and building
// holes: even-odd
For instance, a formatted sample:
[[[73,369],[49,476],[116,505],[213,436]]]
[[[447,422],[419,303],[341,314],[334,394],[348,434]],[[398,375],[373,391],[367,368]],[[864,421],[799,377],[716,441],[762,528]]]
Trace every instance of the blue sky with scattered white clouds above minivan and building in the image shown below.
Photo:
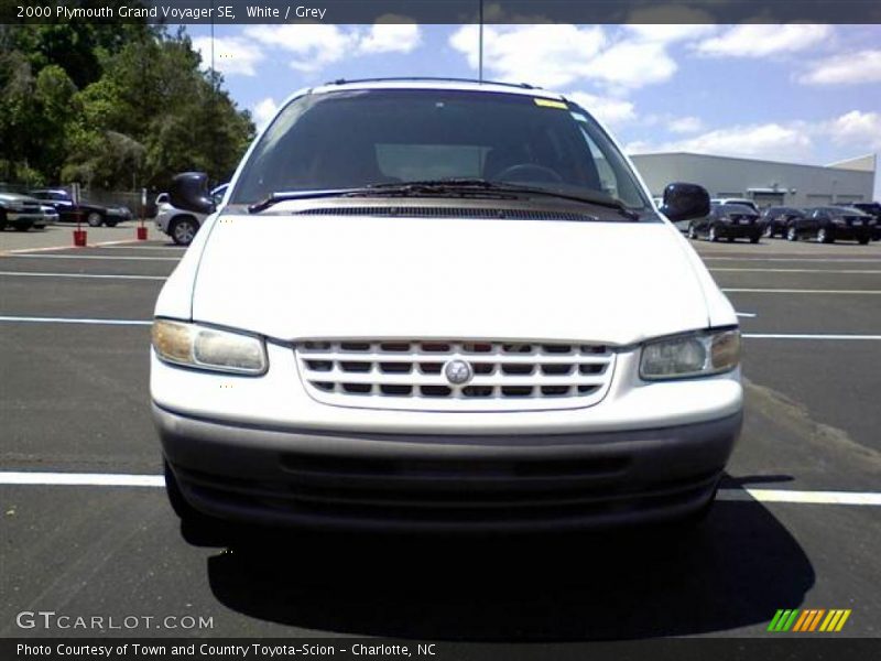
[[[209,26],[187,31],[207,61]],[[403,23],[218,25],[214,45],[261,124],[336,78],[475,77],[477,43],[475,25]],[[826,164],[881,152],[879,44],[878,25],[488,25],[485,77],[569,95],[631,153]]]

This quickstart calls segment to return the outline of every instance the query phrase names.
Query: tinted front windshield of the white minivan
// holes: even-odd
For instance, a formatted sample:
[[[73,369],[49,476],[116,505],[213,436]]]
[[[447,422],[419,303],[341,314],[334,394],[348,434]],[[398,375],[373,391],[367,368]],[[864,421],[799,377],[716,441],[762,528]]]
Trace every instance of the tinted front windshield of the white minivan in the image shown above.
[[[574,104],[434,89],[344,90],[289,104],[263,134],[230,197],[481,178],[643,209],[623,156]]]

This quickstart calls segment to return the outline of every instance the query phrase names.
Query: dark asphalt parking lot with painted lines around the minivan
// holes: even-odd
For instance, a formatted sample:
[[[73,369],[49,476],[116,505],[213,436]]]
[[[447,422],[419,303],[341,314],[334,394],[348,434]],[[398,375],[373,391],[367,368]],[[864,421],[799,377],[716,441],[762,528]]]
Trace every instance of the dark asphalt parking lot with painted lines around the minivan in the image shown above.
[[[54,610],[213,622],[111,636],[768,637],[780,608],[852,609],[837,636],[881,636],[881,243],[695,243],[742,315],[747,420],[694,533],[216,543],[166,505],[148,407],[149,321],[183,250],[13,236],[0,235],[0,636],[96,633],[17,626]],[[35,484],[14,484],[22,472]],[[149,477],[58,484],[70,473]]]

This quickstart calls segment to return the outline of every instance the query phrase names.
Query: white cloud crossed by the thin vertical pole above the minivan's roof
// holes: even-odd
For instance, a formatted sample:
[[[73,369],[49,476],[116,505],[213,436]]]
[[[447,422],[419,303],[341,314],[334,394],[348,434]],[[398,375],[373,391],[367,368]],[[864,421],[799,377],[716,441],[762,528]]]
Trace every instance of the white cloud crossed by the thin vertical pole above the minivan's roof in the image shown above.
[[[501,80],[558,87],[586,76],[605,41],[598,26],[487,25],[483,64],[492,77]],[[471,67],[477,67],[477,25],[456,30],[449,44],[466,55]]]

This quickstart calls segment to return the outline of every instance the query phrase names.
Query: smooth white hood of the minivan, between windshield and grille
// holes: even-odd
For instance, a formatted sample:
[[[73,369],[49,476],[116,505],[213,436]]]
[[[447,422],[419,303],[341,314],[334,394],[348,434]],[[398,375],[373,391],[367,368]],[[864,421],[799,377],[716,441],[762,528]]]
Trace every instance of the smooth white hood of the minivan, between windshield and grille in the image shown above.
[[[227,213],[209,230],[193,319],[279,339],[626,345],[708,325],[661,223]]]

